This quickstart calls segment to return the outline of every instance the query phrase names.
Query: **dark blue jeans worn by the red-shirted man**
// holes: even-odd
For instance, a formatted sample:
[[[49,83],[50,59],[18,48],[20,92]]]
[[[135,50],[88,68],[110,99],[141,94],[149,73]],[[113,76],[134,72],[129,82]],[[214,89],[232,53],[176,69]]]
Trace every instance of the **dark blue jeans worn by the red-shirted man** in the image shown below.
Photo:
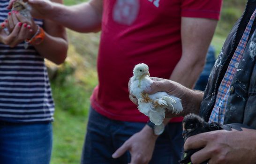
[[[145,123],[111,120],[90,109],[81,164],[128,164],[129,152],[118,159],[111,156],[144,126]],[[169,123],[158,137],[150,164],[179,164],[184,144],[181,133],[181,123]]]

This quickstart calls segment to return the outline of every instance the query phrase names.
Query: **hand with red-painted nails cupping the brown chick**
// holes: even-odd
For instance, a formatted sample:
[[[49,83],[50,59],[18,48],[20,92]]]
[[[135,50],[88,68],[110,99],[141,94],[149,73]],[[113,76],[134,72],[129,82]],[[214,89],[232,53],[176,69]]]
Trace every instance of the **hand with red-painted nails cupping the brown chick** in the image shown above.
[[[7,34],[3,29],[6,27],[6,22],[1,23],[0,26],[0,42],[15,47],[19,43],[22,43],[25,39],[31,37],[31,31],[28,25],[22,22],[18,22],[12,32]]]

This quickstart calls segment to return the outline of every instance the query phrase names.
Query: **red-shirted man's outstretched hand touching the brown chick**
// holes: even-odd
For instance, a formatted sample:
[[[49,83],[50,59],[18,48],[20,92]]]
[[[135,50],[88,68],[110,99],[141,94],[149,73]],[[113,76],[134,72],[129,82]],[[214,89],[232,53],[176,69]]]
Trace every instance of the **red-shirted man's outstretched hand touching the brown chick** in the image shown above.
[[[53,13],[53,5],[50,0],[23,0],[24,2],[28,2],[31,6],[31,15],[34,18],[38,19],[46,19]],[[12,8],[13,3],[15,0],[10,0],[8,5],[8,9]]]

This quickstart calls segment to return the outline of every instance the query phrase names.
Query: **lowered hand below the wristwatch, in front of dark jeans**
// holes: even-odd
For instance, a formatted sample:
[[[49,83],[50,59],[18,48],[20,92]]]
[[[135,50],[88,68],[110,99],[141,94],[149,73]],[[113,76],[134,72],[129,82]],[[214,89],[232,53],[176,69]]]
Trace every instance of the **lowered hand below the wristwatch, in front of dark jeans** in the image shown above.
[[[151,127],[145,126],[140,132],[131,136],[112,155],[113,158],[122,156],[127,150],[131,154],[130,164],[148,164],[152,158],[157,136]]]

